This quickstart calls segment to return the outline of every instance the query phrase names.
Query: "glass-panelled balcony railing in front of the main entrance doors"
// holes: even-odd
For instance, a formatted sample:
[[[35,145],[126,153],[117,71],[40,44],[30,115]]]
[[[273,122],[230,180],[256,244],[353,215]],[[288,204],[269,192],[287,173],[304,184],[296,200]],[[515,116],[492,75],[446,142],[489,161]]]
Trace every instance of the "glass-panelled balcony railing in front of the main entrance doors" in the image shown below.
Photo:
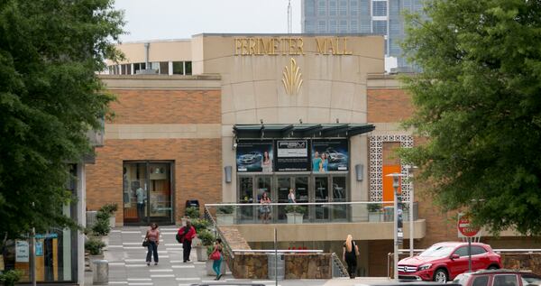
[[[310,224],[348,222],[392,222],[392,201],[371,202],[298,202],[298,203],[220,203],[206,204],[209,214],[215,214],[217,225],[243,224]],[[410,219],[406,211],[409,202],[402,202],[402,221]],[[414,203],[413,220],[417,220]],[[227,209],[227,211],[223,211]],[[222,211],[221,211],[222,210]]]

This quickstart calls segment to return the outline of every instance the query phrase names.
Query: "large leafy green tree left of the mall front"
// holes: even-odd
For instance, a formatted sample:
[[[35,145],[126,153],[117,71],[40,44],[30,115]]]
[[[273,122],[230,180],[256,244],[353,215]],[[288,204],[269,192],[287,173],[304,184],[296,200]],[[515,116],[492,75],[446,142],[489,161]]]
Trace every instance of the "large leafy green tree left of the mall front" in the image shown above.
[[[92,152],[114,99],[96,70],[118,58],[123,21],[113,0],[0,1],[0,234],[74,226],[67,163]]]

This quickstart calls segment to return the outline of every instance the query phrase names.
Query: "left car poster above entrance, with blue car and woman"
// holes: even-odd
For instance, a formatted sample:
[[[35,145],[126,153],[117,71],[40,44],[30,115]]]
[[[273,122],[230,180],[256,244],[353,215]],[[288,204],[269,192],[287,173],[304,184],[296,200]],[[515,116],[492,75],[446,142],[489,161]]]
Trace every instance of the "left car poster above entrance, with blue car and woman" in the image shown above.
[[[236,147],[238,172],[271,172],[274,153],[271,140],[242,140]]]

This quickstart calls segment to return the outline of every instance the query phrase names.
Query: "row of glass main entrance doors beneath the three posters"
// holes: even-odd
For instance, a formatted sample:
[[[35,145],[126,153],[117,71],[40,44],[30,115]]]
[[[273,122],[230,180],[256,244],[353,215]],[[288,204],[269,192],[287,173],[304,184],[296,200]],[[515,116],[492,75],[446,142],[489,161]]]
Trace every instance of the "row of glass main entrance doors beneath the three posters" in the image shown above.
[[[297,203],[328,203],[346,202],[349,198],[347,189],[348,173],[333,174],[274,174],[274,175],[241,175],[238,178],[238,203],[259,203],[264,192],[273,203],[288,203],[289,189],[295,190]],[[286,206],[271,208],[271,222],[286,221]],[[345,205],[314,205],[307,208],[304,219],[306,222],[346,221],[347,206]],[[259,206],[241,207],[241,224],[261,222]],[[309,217],[309,218],[308,218]]]

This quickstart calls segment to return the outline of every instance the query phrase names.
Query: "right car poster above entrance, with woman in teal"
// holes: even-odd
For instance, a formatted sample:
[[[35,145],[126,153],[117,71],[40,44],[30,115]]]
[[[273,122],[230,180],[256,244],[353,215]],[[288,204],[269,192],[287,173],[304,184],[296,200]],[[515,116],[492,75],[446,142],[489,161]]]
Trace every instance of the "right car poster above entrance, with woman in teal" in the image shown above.
[[[312,141],[312,171],[348,171],[347,139]]]

